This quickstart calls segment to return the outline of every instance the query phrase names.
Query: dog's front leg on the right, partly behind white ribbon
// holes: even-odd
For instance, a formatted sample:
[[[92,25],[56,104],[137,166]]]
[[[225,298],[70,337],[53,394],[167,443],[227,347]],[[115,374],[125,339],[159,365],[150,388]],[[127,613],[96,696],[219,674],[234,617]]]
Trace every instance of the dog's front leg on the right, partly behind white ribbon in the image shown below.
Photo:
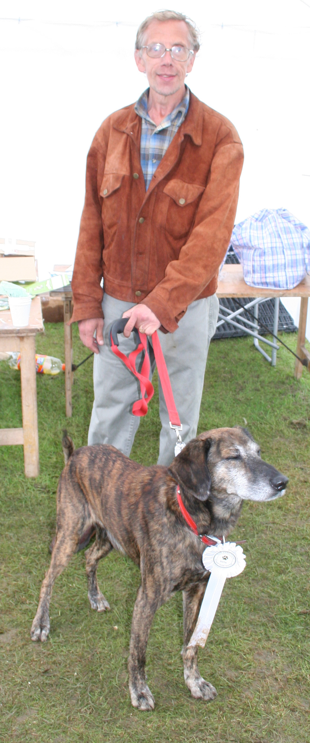
[[[184,645],[182,658],[184,680],[191,695],[196,699],[211,701],[217,696],[217,690],[199,674],[197,663],[198,646],[196,645],[190,648],[187,646],[197,623],[199,609],[203,594],[205,593],[205,585],[206,583],[199,583],[198,585],[192,585],[187,591],[183,591]]]

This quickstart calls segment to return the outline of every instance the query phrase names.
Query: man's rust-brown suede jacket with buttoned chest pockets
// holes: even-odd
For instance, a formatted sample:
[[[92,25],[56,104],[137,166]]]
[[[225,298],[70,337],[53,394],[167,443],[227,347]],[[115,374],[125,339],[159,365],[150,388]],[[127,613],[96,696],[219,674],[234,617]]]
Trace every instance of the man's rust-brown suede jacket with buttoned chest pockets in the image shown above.
[[[111,114],[88,153],[72,321],[103,317],[102,288],[143,302],[171,333],[217,290],[236,215],[243,146],[234,126],[191,93],[188,114],[145,192],[134,105]]]

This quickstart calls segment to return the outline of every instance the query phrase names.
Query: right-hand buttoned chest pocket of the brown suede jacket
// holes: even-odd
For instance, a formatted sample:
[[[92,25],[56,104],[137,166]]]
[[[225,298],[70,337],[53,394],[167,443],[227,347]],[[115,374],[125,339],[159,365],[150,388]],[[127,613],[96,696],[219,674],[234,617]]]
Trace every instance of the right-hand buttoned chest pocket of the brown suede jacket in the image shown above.
[[[188,184],[173,178],[163,189],[169,196],[165,229],[175,239],[188,235],[194,222],[200,197],[205,186]]]

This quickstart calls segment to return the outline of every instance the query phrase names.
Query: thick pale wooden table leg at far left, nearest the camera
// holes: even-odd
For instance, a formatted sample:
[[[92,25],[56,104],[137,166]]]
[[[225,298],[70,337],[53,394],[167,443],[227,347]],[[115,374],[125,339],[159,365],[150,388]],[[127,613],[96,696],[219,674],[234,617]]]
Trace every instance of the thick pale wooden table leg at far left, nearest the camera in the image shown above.
[[[22,428],[24,434],[24,474],[39,475],[39,435],[36,408],[36,337],[20,337]]]

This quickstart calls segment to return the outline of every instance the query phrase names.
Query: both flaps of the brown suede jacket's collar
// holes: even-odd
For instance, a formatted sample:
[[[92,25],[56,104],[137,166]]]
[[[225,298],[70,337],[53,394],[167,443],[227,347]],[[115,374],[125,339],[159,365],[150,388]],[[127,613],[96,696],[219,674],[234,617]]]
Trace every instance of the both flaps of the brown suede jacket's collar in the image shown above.
[[[134,110],[135,105],[133,103],[132,106],[128,106],[125,111],[122,111],[119,118],[113,121],[113,128],[118,132],[129,134],[138,143],[141,132],[141,118]],[[180,139],[184,137],[184,134],[189,134],[194,144],[202,145],[202,103],[193,93],[190,94],[188,113],[177,134],[179,134]]]

